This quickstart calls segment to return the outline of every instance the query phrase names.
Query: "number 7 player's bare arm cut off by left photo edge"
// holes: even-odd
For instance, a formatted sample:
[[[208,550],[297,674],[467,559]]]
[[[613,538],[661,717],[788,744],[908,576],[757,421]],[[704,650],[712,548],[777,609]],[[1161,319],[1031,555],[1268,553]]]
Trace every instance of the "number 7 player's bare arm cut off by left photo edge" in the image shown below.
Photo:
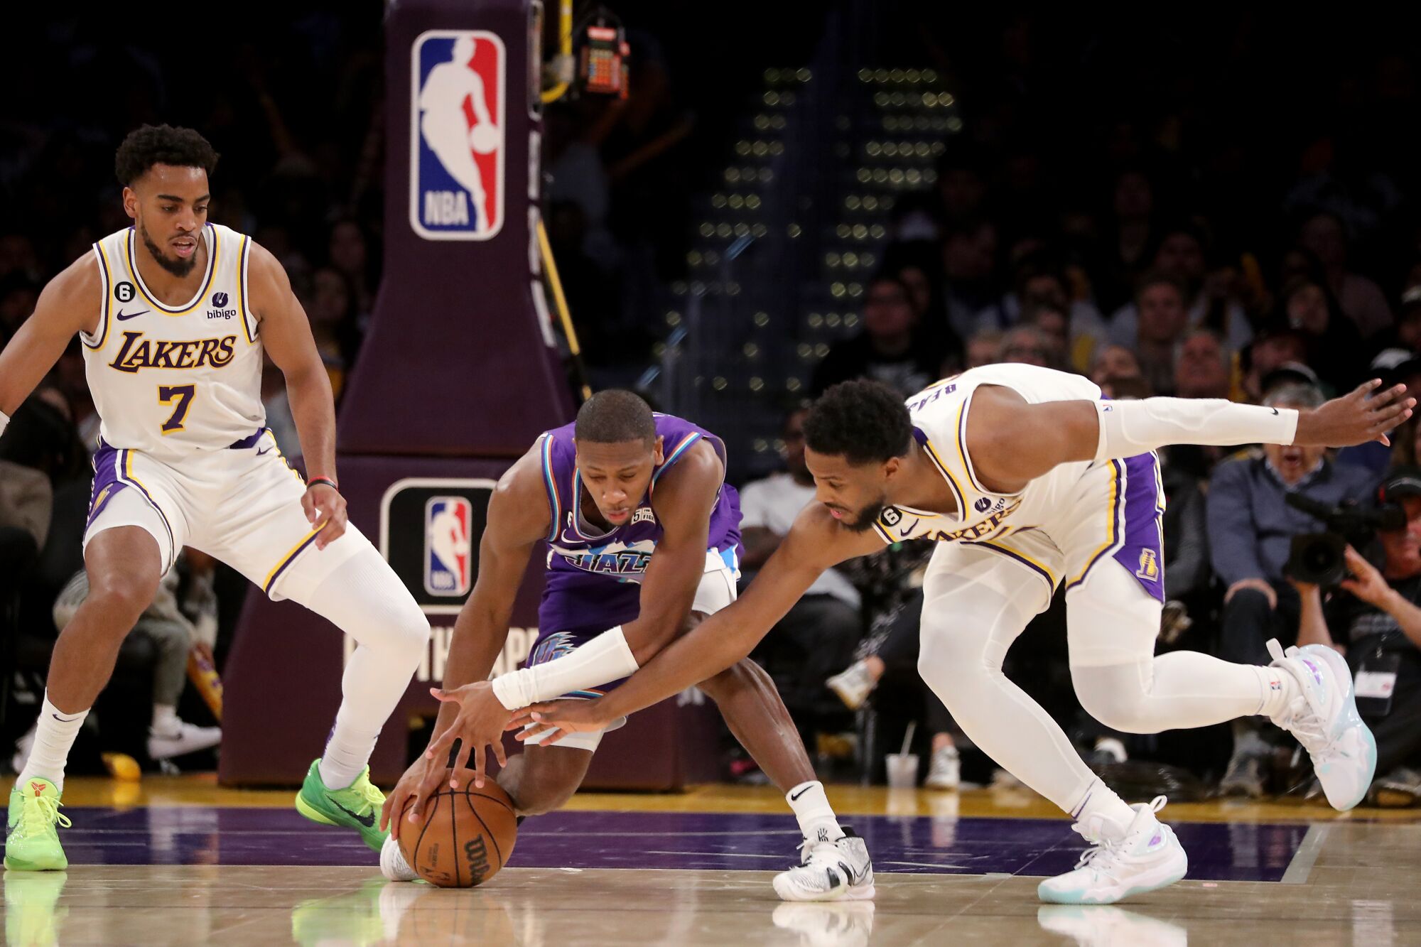
[[[81,256],[50,280],[34,313],[0,351],[0,412],[7,417],[14,414],[64,354],[74,333],[98,328],[102,296],[104,286],[92,253]]]

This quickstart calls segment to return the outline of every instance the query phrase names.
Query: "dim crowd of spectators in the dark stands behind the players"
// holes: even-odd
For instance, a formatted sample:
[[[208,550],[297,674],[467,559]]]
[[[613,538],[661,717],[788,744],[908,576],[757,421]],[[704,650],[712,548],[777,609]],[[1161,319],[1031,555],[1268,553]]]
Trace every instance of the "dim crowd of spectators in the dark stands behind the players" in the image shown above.
[[[260,34],[233,24],[229,65],[200,82],[92,24],[21,44],[11,67],[61,74],[61,91],[87,91],[70,92],[61,112],[50,100],[17,100],[13,121],[0,127],[0,344],[48,279],[128,223],[109,168],[114,145],[145,121],[169,119],[199,128],[223,154],[212,218],[252,233],[286,266],[340,397],[381,276],[378,26],[334,13],[281,28],[261,21]],[[962,104],[963,131],[946,139],[935,189],[898,202],[881,272],[860,300],[863,331],[817,364],[810,394],[872,377],[907,397],[939,377],[1010,361],[1087,375],[1113,398],[1310,407],[1370,377],[1421,397],[1414,58],[1380,51],[1317,61],[1317,75],[1297,80],[1296,91],[1299,100],[1317,92],[1313,112],[1293,104],[1283,117],[1250,122],[1238,88],[1279,88],[1269,70],[1282,73],[1287,61],[1277,37],[1262,36],[1250,17],[1232,33],[1195,37],[1194,55],[1171,46],[1141,65],[1131,48],[1120,63],[1155,78],[1168,73],[1150,95],[1091,95],[1111,80],[1118,85],[1124,65],[1113,71],[1108,60],[1120,51],[1118,33],[1080,38],[1077,30],[1076,46],[1050,47],[1050,28],[1013,17],[985,43],[961,34],[932,47]],[[544,210],[594,360],[598,346],[637,353],[638,340],[651,338],[638,299],[684,260],[686,195],[701,159],[688,142],[698,109],[713,98],[685,71],[674,84],[675,57],[651,34],[632,30],[631,38],[628,100],[546,112]],[[1063,73],[1067,47],[1080,58]],[[122,90],[105,82],[117,73],[132,80]],[[1290,131],[1279,134],[1285,121]],[[264,377],[263,395],[283,452],[298,458],[280,373]],[[801,419],[799,407],[784,419],[786,471],[745,485],[747,576],[813,492]],[[41,641],[57,633],[54,606],[82,565],[95,431],[75,341],[0,439],[7,641],[20,627]],[[1411,725],[1421,715],[1418,451],[1421,425],[1410,421],[1390,446],[1172,448],[1161,456],[1169,606],[1160,647],[1263,663],[1270,637],[1322,643],[1346,653],[1366,673],[1358,680],[1390,681],[1388,697],[1366,697],[1364,710],[1381,745],[1374,799],[1397,805],[1421,801],[1421,727]],[[1405,528],[1349,555],[1340,587],[1289,577],[1292,537],[1322,525],[1286,495],[1376,505],[1378,488],[1403,508]],[[909,543],[826,574],[762,657],[806,732],[853,728],[855,711],[908,694],[898,712],[922,721],[924,776],[952,788],[959,766],[983,781],[992,774],[973,769],[971,747],[914,674],[928,552]],[[180,579],[173,609],[152,617],[212,621],[216,587],[220,663],[242,582],[200,557],[189,557]],[[1057,603],[1023,636],[1030,653],[1015,648],[1007,670],[1059,711],[1094,762],[1148,758],[1231,792],[1309,792],[1290,745],[1250,722],[1233,727],[1232,741],[1229,728],[1216,728],[1222,739],[1209,747],[1225,749],[1215,752],[1204,742],[1113,734],[1084,718],[1059,673],[1064,636],[1042,633],[1059,630],[1059,613]],[[171,650],[162,644],[171,630],[149,636],[151,665]],[[1049,637],[1056,643],[1043,644]],[[11,667],[24,664],[13,644],[7,654]],[[152,719],[136,728],[138,755],[159,756],[163,748],[148,739],[192,727],[175,702],[200,718],[200,707],[188,710],[190,694],[171,694],[168,661],[166,690],[155,688]]]

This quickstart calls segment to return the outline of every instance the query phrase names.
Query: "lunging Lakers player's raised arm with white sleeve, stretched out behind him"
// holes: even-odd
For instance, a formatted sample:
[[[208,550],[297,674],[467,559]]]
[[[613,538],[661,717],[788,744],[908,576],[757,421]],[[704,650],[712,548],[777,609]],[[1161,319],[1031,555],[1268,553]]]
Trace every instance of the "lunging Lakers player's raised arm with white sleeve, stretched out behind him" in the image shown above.
[[[1171,444],[1387,444],[1411,417],[1405,385],[1373,380],[1320,408],[1263,408],[1222,398],[1047,401],[1029,404],[1005,387],[983,387],[968,415],[968,452],[978,475],[1003,492],[1060,464],[1148,454]]]

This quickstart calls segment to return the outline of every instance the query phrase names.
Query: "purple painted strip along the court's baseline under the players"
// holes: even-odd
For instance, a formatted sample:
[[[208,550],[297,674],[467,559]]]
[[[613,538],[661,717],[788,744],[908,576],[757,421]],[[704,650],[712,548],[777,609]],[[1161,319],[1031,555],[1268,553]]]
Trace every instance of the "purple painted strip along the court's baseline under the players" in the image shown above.
[[[378,859],[354,832],[288,809],[65,809],[71,865],[367,865]],[[1059,874],[1084,845],[1059,819],[857,816],[880,872]],[[1171,823],[1189,853],[1189,877],[1279,882],[1306,825]],[[780,815],[554,812],[523,823],[512,867],[779,870],[800,835]]]

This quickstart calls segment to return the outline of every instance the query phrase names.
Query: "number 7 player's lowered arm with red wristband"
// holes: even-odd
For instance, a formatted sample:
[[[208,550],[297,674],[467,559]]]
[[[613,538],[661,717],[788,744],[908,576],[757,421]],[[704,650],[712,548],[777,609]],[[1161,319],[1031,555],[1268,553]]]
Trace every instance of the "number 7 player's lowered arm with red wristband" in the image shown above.
[[[314,481],[301,499],[306,518],[320,532],[315,547],[325,549],[345,532],[345,499],[335,481],[335,398],[331,380],[321,363],[321,353],[311,337],[311,323],[291,291],[286,269],[271,252],[256,242],[250,250],[247,279],[252,311],[261,326],[261,344],[271,361],[286,375],[286,394],[291,419],[301,438],[306,478]]]

